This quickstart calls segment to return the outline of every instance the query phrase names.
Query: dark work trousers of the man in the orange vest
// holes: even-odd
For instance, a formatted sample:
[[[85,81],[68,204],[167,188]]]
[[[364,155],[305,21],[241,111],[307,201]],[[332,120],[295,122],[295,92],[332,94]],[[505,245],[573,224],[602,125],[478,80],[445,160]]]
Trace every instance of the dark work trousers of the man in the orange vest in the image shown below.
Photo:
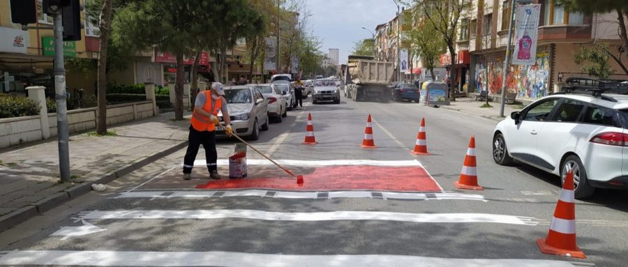
[[[194,167],[194,160],[196,160],[198,147],[201,144],[205,150],[205,160],[207,162],[207,169],[209,169],[209,172],[218,169],[216,166],[216,161],[218,160],[218,153],[216,153],[216,131],[199,132],[190,125],[188,142],[188,151],[186,151],[186,158],[184,158],[184,174],[192,173],[192,167]]]

